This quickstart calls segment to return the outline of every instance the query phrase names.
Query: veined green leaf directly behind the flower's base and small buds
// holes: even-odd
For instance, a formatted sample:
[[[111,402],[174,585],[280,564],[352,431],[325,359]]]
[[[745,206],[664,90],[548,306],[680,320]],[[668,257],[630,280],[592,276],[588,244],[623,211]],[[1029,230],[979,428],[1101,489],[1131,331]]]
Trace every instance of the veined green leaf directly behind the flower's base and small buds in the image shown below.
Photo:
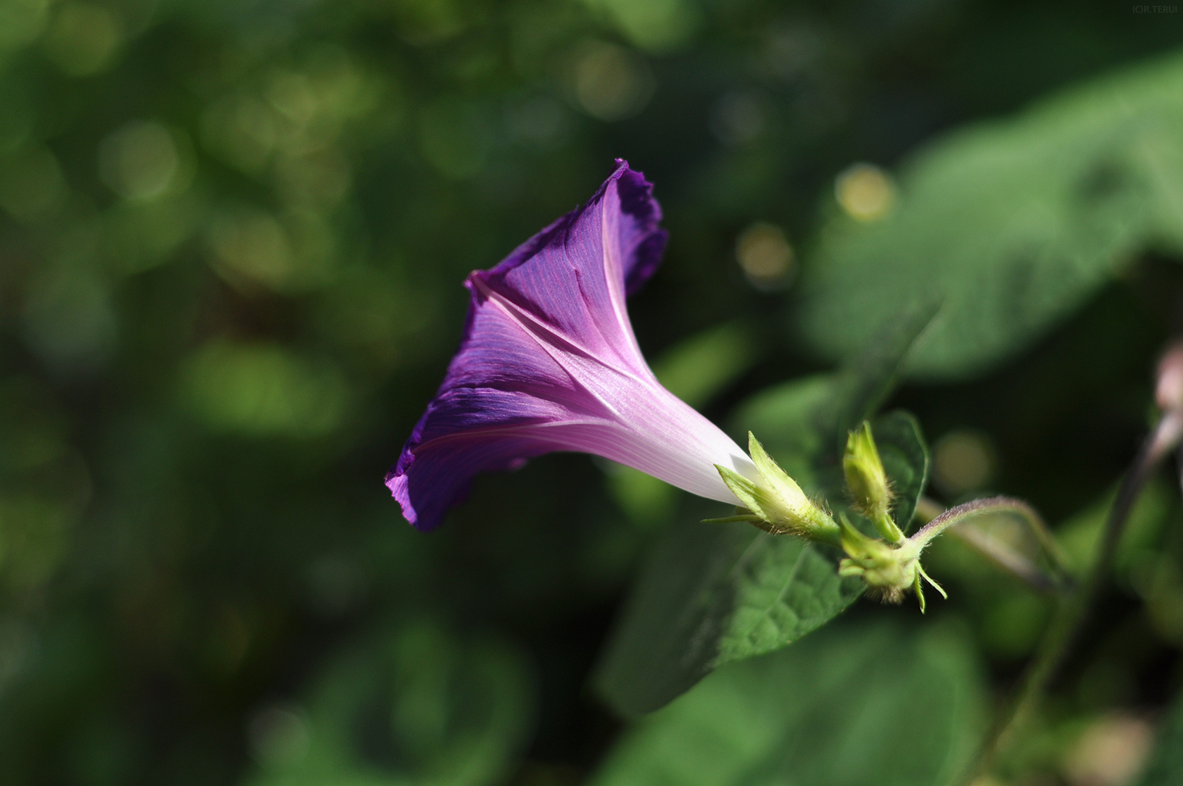
[[[757,394],[741,407],[737,421],[767,439],[807,492],[841,507],[839,457],[847,424],[861,423],[886,397],[932,310],[918,307],[896,320],[838,374]],[[914,429],[909,415],[883,423],[892,457],[890,465],[885,459],[888,478],[906,492],[900,504],[914,507],[912,490],[923,488],[927,472],[923,440],[918,431],[909,433]],[[641,573],[596,670],[597,690],[623,715],[648,713],[724,663],[796,642],[861,594],[860,579],[838,575],[840,556],[744,523],[678,524]]]

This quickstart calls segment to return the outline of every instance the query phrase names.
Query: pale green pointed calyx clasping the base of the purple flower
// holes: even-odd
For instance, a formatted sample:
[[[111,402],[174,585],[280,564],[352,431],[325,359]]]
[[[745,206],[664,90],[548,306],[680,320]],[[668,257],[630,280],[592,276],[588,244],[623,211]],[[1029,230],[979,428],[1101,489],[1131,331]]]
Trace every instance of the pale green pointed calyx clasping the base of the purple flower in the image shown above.
[[[759,472],[759,482],[716,464],[723,482],[751,511],[751,516],[744,518],[774,535],[799,535],[838,546],[840,530],[834,520],[780,468],[751,432],[748,433],[748,452]]]

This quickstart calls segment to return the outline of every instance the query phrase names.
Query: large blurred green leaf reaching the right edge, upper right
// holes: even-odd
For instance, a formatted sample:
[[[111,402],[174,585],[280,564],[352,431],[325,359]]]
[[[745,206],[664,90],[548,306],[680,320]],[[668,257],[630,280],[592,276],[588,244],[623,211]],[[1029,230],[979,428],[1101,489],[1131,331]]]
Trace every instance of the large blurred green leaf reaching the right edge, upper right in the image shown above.
[[[1045,333],[1150,247],[1183,252],[1183,57],[1069,90],[919,150],[891,215],[836,215],[797,311],[849,356],[916,291],[944,302],[909,373],[964,378]]]

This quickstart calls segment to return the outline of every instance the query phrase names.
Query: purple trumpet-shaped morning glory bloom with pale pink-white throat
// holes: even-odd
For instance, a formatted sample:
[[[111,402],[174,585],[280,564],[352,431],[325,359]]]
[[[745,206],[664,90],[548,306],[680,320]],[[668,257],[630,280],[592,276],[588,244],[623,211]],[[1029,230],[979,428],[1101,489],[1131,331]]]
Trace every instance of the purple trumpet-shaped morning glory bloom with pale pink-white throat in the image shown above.
[[[477,472],[558,450],[733,504],[715,465],[758,477],[641,356],[625,297],[653,275],[666,233],[653,187],[616,163],[587,205],[465,282],[472,302],[460,349],[386,478],[419,529],[438,526]]]

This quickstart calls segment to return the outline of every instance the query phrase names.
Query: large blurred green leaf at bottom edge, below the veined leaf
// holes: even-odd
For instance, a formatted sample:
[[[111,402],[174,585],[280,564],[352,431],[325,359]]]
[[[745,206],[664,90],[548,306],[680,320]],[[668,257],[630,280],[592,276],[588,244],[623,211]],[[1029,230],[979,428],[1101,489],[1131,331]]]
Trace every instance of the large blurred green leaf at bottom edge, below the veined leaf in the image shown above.
[[[985,690],[959,629],[832,626],[729,665],[639,722],[592,786],[939,786],[972,755]]]

